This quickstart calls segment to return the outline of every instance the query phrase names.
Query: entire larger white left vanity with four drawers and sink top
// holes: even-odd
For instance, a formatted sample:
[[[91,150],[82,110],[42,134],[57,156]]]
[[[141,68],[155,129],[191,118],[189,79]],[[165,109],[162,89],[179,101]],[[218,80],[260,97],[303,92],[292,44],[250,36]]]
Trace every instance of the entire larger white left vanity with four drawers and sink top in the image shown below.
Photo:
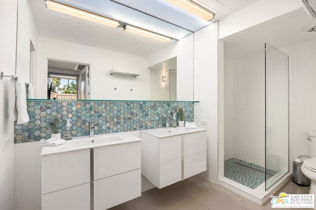
[[[141,196],[141,139],[74,138],[41,151],[42,210],[105,210]]]

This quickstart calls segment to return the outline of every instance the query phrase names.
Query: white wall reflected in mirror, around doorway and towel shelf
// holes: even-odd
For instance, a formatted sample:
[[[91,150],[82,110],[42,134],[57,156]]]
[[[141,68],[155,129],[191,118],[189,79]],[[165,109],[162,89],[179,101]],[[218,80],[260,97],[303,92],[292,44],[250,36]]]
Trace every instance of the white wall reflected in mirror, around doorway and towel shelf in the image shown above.
[[[39,36],[36,98],[46,98],[47,59],[90,64],[91,99],[149,100],[150,71],[146,58]],[[110,75],[110,70],[138,72],[140,76]],[[114,90],[117,88],[117,90]],[[133,89],[132,91],[130,89]]]

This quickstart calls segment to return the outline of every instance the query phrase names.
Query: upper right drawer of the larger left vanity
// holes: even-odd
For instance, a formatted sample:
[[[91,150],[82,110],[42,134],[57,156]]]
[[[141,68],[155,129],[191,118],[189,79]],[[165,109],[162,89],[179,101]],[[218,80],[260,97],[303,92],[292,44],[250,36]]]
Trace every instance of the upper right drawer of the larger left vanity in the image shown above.
[[[93,180],[141,168],[141,142],[93,149]]]

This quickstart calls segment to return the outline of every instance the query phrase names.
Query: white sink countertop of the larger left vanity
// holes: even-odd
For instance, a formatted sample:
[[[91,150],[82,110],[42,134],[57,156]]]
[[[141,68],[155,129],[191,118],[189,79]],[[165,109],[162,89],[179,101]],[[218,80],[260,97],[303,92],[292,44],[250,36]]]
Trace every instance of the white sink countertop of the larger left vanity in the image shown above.
[[[66,141],[66,144],[53,146],[43,146],[40,155],[61,153],[66,151],[83,150],[96,147],[104,147],[128,142],[141,141],[134,135],[126,132],[95,135],[94,137],[76,137]]]

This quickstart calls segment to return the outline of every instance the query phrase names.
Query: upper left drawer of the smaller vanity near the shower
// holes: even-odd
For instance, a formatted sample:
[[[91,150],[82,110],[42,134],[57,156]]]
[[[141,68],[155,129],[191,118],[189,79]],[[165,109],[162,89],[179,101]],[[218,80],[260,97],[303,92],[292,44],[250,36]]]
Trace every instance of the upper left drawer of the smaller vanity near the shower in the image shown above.
[[[159,139],[159,163],[181,157],[181,135]]]

